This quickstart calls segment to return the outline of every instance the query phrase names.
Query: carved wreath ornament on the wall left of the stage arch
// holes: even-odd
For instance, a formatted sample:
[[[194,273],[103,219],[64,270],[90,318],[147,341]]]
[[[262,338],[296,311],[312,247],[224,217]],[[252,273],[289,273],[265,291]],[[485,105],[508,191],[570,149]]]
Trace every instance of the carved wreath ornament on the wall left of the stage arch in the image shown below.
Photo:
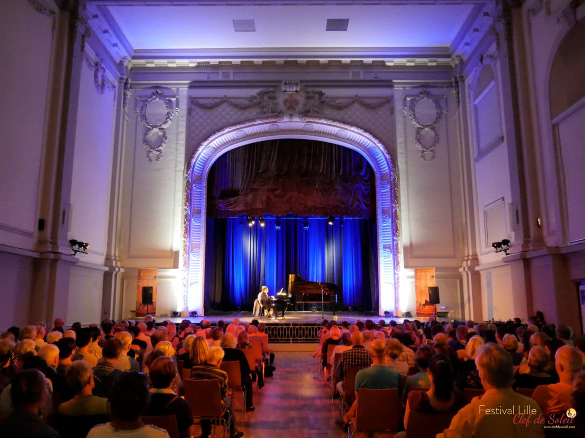
[[[147,98],[136,98],[142,102],[139,111],[140,121],[146,127],[142,147],[146,149],[146,159],[159,162],[163,158],[163,149],[167,145],[167,128],[173,123],[173,116],[178,114],[178,96],[165,96],[160,88],[156,88]]]

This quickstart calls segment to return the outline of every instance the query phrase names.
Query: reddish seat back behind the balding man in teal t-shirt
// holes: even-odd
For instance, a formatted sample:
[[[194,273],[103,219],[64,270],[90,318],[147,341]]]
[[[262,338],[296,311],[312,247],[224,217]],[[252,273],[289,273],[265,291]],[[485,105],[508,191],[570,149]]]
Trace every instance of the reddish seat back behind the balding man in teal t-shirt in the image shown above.
[[[398,388],[391,390],[360,388],[356,432],[395,432],[398,429],[401,408]]]

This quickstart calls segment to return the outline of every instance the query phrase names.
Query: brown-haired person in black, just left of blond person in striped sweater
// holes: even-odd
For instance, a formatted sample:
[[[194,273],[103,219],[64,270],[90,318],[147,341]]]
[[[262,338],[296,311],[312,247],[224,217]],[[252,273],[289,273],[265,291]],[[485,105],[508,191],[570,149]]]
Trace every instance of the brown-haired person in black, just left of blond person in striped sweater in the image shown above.
[[[193,424],[189,404],[178,397],[173,390],[177,368],[171,357],[159,356],[150,365],[150,404],[145,416],[174,415],[180,438],[189,438],[189,428]]]

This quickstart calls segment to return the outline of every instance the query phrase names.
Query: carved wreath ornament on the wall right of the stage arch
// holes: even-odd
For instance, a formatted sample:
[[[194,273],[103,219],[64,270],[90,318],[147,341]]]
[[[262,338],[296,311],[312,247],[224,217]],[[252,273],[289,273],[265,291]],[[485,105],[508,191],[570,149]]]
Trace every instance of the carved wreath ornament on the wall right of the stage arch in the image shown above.
[[[428,89],[416,96],[404,96],[404,115],[408,116],[417,128],[414,143],[421,152],[422,161],[433,161],[439,145],[437,127],[442,119],[443,111],[447,112],[446,97],[433,96]],[[445,101],[445,108],[441,107]]]

